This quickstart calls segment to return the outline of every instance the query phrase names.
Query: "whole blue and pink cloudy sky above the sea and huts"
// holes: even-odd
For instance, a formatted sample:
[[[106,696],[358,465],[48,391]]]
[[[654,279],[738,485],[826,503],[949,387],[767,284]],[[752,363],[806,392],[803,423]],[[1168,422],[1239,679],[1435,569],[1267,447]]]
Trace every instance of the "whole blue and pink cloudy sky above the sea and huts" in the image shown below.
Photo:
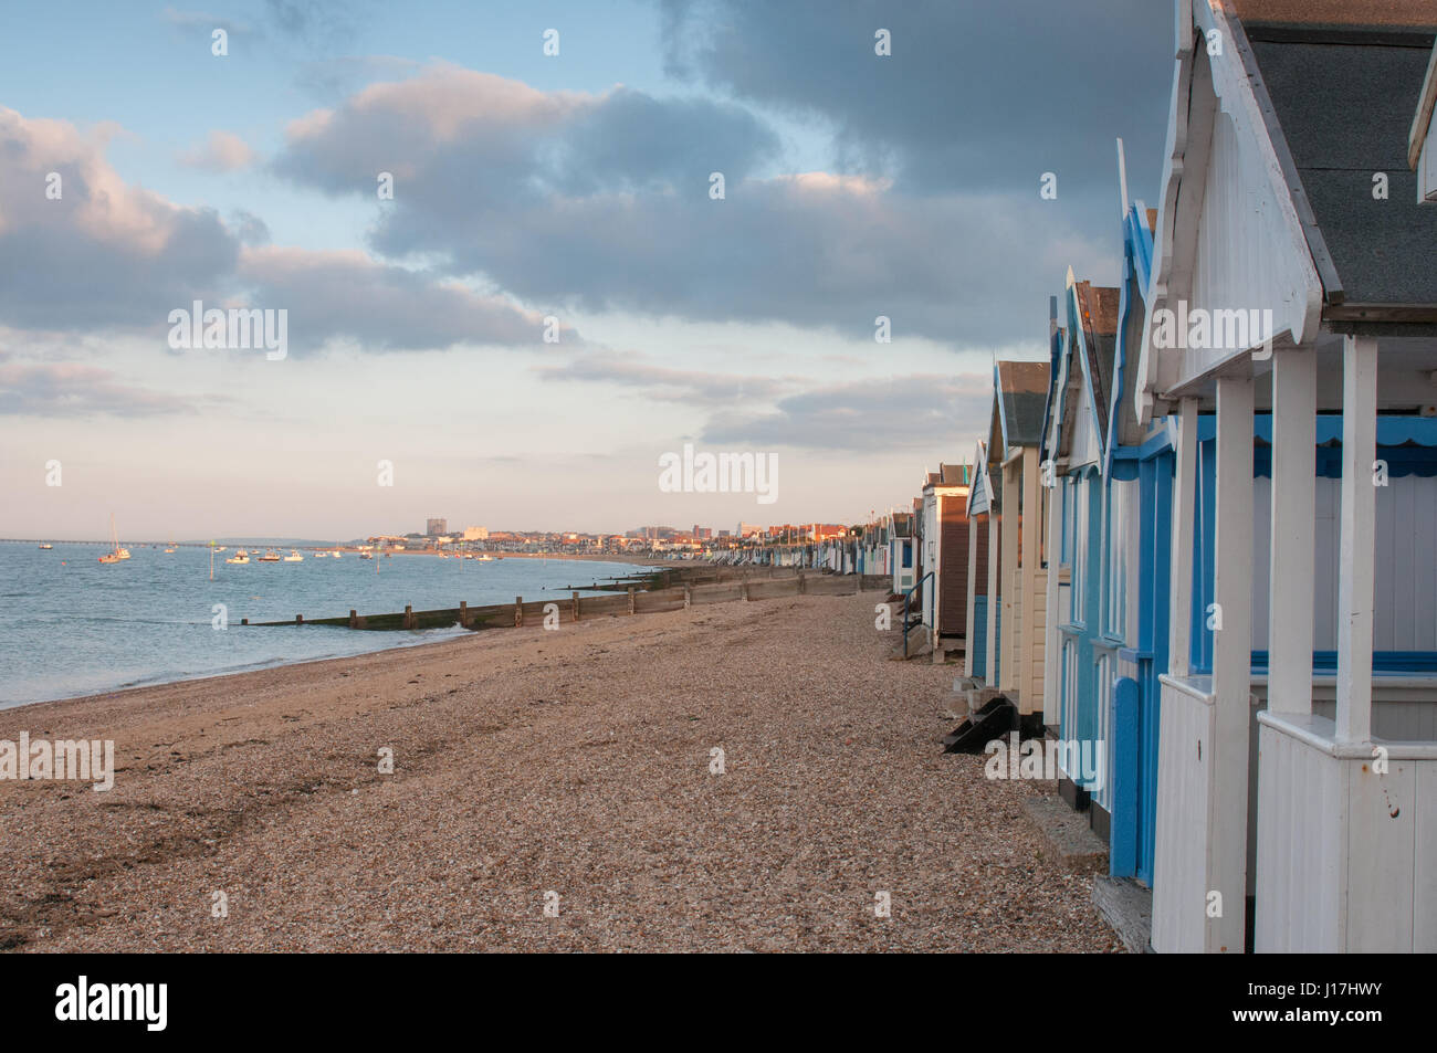
[[[971,458],[994,358],[1046,356],[1068,269],[1117,282],[1115,139],[1155,205],[1171,23],[1154,0],[7,3],[0,536],[908,507]],[[197,300],[283,310],[283,358],[182,346]],[[776,458],[775,500],[662,488],[685,444]]]

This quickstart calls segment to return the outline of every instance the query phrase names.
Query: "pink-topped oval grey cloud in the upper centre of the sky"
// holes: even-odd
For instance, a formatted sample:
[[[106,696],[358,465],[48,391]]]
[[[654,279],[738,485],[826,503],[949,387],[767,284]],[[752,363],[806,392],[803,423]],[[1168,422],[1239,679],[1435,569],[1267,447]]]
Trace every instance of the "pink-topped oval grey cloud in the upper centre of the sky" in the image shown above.
[[[397,211],[680,184],[707,197],[716,167],[741,178],[777,151],[773,132],[739,106],[628,88],[542,92],[443,63],[369,85],[287,131],[279,172],[328,194],[372,195],[374,175],[389,171]]]

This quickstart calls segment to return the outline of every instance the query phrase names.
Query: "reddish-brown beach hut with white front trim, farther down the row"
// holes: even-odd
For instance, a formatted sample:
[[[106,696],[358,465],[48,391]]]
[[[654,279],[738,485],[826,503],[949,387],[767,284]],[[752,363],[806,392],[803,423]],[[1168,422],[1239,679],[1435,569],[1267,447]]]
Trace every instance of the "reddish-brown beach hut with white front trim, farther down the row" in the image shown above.
[[[934,652],[967,641],[969,476],[966,464],[940,464],[923,486],[923,625]]]

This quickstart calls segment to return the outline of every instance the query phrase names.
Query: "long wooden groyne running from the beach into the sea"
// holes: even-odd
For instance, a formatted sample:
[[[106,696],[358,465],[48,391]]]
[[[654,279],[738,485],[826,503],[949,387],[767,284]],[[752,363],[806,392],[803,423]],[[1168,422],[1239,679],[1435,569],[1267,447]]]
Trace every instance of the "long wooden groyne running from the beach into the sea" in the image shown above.
[[[888,590],[887,575],[832,575],[813,572],[780,573],[783,567],[671,567],[651,576],[652,588],[639,589],[634,585],[585,586],[582,592],[605,592],[606,595],[581,595],[569,589],[569,596],[526,600],[514,596],[513,603],[490,603],[470,606],[461,602],[454,608],[437,611],[415,611],[407,606],[395,613],[362,615],[351,609],[338,618],[305,618],[295,615],[292,622],[256,622],[259,626],[280,625],[332,625],[349,629],[379,632],[448,629],[499,629],[522,625],[542,625],[545,619],[553,623],[578,622],[585,618],[605,615],[647,615],[662,611],[683,611],[707,603],[756,602],[782,596],[851,596],[856,592]],[[677,582],[677,583],[675,583]],[[622,592],[616,592],[622,589]],[[241,625],[250,621],[241,619]]]

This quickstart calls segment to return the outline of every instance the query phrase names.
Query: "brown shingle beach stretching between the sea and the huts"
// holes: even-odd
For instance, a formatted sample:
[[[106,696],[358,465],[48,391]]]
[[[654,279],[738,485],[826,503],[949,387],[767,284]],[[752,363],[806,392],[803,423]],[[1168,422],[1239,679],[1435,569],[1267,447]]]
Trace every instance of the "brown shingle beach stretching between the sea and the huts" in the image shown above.
[[[114,738],[118,770],[108,793],[0,783],[0,947],[1121,950],[1091,878],[1039,852],[1022,802],[1040,784],[940,753],[956,667],[890,661],[878,599],[490,631],[3,711],[0,738]]]

